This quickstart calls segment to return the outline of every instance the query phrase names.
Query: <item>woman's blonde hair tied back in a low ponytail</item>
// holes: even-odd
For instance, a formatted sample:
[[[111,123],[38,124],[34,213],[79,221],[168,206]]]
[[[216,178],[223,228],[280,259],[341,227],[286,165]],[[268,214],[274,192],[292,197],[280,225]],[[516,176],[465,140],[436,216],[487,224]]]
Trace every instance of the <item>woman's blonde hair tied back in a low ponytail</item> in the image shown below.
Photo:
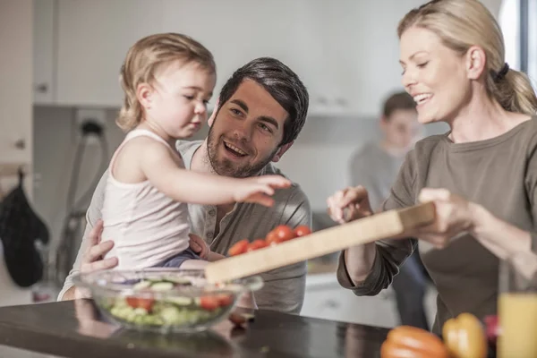
[[[491,98],[510,112],[535,115],[537,98],[523,72],[504,68],[505,45],[498,22],[477,0],[433,0],[407,13],[397,35],[416,26],[434,32],[443,44],[464,55],[472,46],[486,54],[486,89]],[[507,70],[504,73],[502,70]]]

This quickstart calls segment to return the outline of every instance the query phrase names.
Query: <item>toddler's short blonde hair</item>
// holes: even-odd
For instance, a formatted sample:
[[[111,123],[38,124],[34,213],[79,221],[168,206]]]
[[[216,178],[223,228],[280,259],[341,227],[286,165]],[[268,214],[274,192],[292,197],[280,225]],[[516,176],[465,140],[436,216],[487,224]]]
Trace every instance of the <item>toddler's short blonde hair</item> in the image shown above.
[[[210,73],[216,64],[210,51],[198,41],[183,34],[162,33],[138,40],[127,52],[119,81],[124,90],[124,104],[115,123],[125,132],[141,123],[143,110],[136,89],[141,83],[155,80],[157,71],[166,64],[180,61],[197,63]]]

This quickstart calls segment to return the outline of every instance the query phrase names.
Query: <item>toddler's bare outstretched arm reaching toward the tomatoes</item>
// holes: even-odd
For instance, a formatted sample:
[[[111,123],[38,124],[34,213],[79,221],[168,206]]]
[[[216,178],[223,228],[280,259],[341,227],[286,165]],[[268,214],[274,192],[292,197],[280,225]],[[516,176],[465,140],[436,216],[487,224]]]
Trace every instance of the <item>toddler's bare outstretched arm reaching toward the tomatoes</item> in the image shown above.
[[[148,141],[141,150],[143,174],[160,192],[177,201],[201,205],[221,205],[235,201],[258,202],[270,206],[274,188],[290,182],[279,175],[235,179],[198,173],[177,166],[172,153],[157,141]]]

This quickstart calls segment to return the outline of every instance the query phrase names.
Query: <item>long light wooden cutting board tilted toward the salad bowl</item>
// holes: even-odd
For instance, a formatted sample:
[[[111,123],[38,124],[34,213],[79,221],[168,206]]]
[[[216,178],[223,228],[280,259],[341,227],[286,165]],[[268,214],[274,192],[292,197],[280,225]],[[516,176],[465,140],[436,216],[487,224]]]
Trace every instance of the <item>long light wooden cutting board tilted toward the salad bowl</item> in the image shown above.
[[[249,277],[274,268],[345,250],[354,245],[387,239],[429,225],[434,221],[433,203],[389,210],[360,220],[330,227],[277,246],[209,262],[205,276],[210,283]]]

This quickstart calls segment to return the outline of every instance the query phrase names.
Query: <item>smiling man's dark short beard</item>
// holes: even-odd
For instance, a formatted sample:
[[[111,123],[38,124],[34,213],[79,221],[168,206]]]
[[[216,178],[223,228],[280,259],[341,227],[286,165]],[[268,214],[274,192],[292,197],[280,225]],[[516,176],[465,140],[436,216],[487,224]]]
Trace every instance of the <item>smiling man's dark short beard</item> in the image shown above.
[[[232,176],[235,178],[246,178],[249,176],[258,175],[261,169],[270,163],[277,152],[277,149],[275,149],[272,153],[270,153],[270,155],[268,155],[267,158],[264,158],[263,160],[260,160],[260,162],[254,163],[253,165],[246,164],[243,166],[238,166],[227,158],[218,160],[218,144],[221,142],[220,139],[221,138],[216,138],[216,134],[211,127],[207,137],[207,154],[209,157],[209,164],[217,175]]]

